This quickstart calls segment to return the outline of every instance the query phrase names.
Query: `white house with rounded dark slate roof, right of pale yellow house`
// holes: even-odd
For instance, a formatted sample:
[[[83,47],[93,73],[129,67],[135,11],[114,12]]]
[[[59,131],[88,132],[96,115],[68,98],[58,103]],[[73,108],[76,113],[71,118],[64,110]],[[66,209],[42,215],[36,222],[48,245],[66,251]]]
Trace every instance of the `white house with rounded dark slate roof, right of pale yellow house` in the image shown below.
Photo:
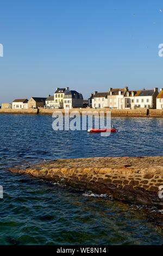
[[[64,95],[64,108],[76,107],[83,107],[83,95],[76,90],[70,90]]]

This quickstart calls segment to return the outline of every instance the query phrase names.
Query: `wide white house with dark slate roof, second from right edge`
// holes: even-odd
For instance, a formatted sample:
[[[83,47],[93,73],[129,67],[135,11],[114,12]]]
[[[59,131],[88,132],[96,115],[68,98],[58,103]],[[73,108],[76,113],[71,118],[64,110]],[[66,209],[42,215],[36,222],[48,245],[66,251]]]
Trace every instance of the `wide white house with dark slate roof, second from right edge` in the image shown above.
[[[158,94],[158,88],[137,91],[134,97],[135,108],[156,108],[156,97]]]

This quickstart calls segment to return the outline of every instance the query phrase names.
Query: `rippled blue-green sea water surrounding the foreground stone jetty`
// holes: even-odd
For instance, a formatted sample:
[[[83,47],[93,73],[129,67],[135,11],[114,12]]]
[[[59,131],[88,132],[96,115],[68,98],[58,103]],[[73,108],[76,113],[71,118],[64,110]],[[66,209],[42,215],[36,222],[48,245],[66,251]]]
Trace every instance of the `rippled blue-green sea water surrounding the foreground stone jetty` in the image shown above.
[[[53,131],[48,115],[0,115],[0,245],[160,245],[163,214],[87,191],[13,174],[9,167],[53,159],[158,156],[163,119],[112,118],[109,137]]]

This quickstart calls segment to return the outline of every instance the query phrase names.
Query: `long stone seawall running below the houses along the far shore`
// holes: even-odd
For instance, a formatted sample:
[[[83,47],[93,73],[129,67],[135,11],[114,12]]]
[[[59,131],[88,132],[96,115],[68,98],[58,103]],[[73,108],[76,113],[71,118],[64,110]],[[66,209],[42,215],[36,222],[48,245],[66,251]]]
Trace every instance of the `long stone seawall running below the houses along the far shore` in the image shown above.
[[[54,112],[62,112],[64,114],[65,109],[0,109],[0,114],[47,114],[52,115]],[[112,117],[163,117],[163,109],[146,109],[146,108],[138,108],[138,109],[94,109],[94,108],[73,108],[70,109],[70,113],[78,111],[80,114],[85,112],[99,112],[99,111],[111,111]]]

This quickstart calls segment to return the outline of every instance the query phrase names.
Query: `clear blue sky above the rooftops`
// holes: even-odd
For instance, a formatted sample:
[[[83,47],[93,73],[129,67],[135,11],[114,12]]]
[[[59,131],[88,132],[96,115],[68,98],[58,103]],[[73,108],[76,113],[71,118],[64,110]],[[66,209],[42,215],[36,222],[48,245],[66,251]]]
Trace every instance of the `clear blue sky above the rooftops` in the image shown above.
[[[163,87],[163,1],[0,1],[0,103],[47,96]]]

